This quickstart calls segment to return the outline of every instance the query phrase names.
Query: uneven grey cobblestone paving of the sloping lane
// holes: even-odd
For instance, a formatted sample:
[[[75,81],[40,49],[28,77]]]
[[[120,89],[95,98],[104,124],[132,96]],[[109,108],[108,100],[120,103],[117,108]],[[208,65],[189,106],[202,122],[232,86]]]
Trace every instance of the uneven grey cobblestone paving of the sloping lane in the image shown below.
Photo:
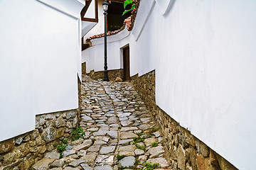
[[[33,169],[146,169],[145,162],[158,164],[155,169],[170,169],[161,132],[131,84],[84,78],[80,120],[84,137],[68,140],[62,159],[55,149]]]

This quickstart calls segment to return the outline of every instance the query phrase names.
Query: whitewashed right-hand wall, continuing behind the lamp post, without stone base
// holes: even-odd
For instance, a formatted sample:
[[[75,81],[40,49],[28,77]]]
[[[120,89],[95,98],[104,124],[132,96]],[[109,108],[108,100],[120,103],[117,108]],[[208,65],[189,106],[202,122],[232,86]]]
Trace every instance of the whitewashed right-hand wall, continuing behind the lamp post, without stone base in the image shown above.
[[[255,6],[141,0],[132,33],[108,44],[111,63],[129,43],[131,75],[156,69],[156,104],[238,169],[256,169]],[[83,52],[87,72],[103,70],[100,40]]]

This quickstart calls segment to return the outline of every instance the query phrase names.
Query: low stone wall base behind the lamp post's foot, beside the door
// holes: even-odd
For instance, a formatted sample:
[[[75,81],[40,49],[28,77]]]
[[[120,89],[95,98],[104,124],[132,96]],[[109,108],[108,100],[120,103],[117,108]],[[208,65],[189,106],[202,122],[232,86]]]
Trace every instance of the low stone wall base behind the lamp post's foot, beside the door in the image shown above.
[[[114,81],[117,77],[120,77],[121,79],[123,79],[123,77],[124,77],[124,70],[123,69],[107,70],[107,75],[108,75],[110,81]],[[89,73],[89,76],[92,79],[103,79],[104,71],[94,72],[94,70],[92,70]]]

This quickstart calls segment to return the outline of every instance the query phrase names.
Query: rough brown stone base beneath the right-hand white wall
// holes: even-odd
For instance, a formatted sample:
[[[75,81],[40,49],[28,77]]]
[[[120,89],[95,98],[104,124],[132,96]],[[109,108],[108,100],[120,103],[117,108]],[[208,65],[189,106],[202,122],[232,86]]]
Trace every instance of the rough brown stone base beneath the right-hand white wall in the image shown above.
[[[168,152],[169,161],[173,169],[193,170],[235,170],[235,166],[220,157],[210,147],[198,140],[191,132],[181,127],[176,120],[156,106],[155,101],[155,71],[135,75],[132,84],[146,107],[152,112],[152,117],[159,125]]]

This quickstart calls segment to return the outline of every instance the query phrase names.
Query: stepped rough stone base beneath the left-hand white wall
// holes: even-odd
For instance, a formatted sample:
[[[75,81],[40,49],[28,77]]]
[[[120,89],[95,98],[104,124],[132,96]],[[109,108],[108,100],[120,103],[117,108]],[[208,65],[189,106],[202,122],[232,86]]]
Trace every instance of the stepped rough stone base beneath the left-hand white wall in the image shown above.
[[[78,127],[78,110],[36,115],[36,129],[0,142],[0,169],[29,169]]]

